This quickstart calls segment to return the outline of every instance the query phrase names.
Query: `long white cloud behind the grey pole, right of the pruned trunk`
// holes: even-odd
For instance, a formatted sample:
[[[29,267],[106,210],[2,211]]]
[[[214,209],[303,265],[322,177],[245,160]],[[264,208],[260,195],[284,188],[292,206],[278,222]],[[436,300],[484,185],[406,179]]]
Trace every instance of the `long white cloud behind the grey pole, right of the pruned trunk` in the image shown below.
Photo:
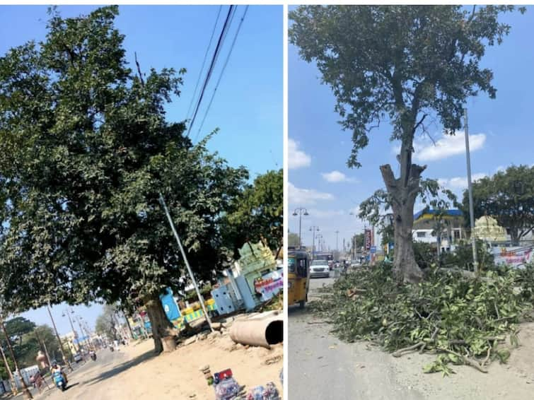
[[[480,150],[486,141],[485,134],[469,135],[470,152]],[[430,141],[414,143],[414,158],[419,161],[434,161],[465,154],[465,132],[458,131],[455,135],[443,135],[436,144]]]

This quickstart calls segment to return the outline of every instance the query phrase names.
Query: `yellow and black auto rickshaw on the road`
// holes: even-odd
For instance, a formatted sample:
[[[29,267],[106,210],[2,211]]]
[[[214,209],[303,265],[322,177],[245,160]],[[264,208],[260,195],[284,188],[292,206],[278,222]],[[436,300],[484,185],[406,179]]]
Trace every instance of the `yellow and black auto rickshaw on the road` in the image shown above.
[[[288,305],[303,308],[308,301],[310,259],[304,250],[289,249],[287,257]]]

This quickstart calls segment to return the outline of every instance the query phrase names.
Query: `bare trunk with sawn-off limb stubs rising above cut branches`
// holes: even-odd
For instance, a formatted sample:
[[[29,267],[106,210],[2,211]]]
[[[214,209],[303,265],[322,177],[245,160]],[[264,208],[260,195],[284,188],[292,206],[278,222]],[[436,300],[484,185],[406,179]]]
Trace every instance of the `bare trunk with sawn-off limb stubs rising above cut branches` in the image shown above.
[[[396,179],[390,165],[380,167],[385,187],[391,199],[395,228],[395,252],[393,270],[399,281],[415,283],[423,273],[414,257],[412,228],[414,225],[414,204],[419,193],[419,178],[424,167],[412,164],[406,180]]]

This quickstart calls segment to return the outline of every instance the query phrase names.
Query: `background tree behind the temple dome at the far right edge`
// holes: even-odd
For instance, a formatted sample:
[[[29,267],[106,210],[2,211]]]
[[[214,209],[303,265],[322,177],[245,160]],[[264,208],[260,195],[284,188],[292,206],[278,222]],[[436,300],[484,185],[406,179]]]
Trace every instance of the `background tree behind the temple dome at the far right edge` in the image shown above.
[[[473,182],[472,193],[475,218],[496,218],[499,225],[509,229],[515,245],[534,229],[534,166],[511,165],[492,177],[483,177]],[[467,190],[463,193],[462,208],[468,216]]]

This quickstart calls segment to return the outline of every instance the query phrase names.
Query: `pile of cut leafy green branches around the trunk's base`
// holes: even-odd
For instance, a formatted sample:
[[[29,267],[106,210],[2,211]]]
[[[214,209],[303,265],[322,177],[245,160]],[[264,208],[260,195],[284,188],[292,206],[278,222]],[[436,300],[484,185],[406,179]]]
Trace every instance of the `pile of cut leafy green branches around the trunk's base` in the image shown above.
[[[379,264],[323,288],[311,307],[324,313],[345,341],[373,341],[397,357],[436,353],[424,372],[448,375],[451,364],[487,372],[492,360],[506,362],[509,348],[518,345],[517,324],[533,308],[530,284],[525,271],[509,270],[477,280],[431,272],[421,283],[399,285],[391,266]]]

